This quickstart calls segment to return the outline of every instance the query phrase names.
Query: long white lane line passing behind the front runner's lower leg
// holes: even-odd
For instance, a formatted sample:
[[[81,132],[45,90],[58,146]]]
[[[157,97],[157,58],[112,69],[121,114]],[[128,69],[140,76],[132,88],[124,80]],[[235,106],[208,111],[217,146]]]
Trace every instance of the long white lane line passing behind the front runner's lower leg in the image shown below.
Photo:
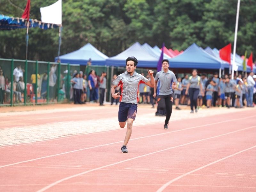
[[[255,115],[254,115],[254,116],[255,116]],[[247,119],[247,118],[254,117],[254,116],[243,117],[243,118],[240,118],[240,119],[230,119],[230,120],[220,121],[220,122],[211,123],[211,124],[204,124],[204,125],[199,125],[199,126],[195,126],[195,127],[188,127],[188,128],[185,128],[185,129],[179,129],[179,130],[171,131],[171,132],[164,132],[164,133],[158,133],[158,134],[155,134],[155,135],[148,135],[148,136],[144,136],[144,137],[138,137],[138,138],[130,139],[130,141],[131,141],[131,140],[144,139],[144,138],[148,138],[148,137],[159,136],[159,135],[164,135],[164,134],[169,134],[169,133],[173,133],[173,132],[185,131],[185,130],[194,129],[194,128],[198,128],[198,127],[204,127],[204,126],[215,125],[215,124],[221,124],[221,123],[230,122],[230,121],[236,121],[236,120]],[[122,141],[117,141],[117,142],[113,142],[113,143],[107,143],[107,144],[103,144],[103,145],[97,145],[97,146],[94,146],[94,147],[82,148],[82,149],[67,151],[67,152],[64,152],[64,153],[58,153],[58,154],[54,154],[54,155],[49,155],[49,156],[44,156],[44,157],[38,157],[38,158],[35,158],[35,159],[29,159],[29,160],[20,161],[20,162],[17,162],[17,163],[12,163],[12,164],[7,164],[7,165],[1,165],[0,168],[12,166],[12,165],[17,165],[17,164],[21,164],[21,163],[27,163],[27,162],[31,162],[31,161],[36,161],[36,160],[39,160],[39,159],[44,159],[44,158],[49,158],[49,157],[64,155],[64,154],[73,153],[73,152],[77,152],[77,151],[82,151],[82,150],[86,150],[86,149],[92,149],[92,148],[97,148],[97,147],[103,147],[103,146],[112,145],[112,144],[121,143],[121,142],[124,142],[124,141],[122,140]]]

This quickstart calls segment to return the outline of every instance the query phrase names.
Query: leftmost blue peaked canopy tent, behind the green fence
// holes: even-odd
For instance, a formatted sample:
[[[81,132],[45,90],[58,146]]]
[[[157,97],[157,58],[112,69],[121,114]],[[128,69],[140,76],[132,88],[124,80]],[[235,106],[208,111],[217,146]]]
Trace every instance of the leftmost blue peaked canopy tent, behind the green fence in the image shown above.
[[[108,59],[108,56],[100,52],[90,43],[74,52],[60,56],[60,61],[62,63],[70,64],[86,65],[89,59],[92,60],[92,65],[106,65],[106,59]],[[55,61],[57,60],[58,57],[55,57]]]

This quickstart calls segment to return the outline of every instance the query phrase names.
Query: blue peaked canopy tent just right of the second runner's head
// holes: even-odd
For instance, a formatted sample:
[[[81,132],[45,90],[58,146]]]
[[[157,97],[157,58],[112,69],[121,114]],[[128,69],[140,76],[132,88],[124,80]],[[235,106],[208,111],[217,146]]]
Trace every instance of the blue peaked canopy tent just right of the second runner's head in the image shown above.
[[[171,68],[220,69],[224,62],[214,58],[195,43],[182,54],[169,59]]]

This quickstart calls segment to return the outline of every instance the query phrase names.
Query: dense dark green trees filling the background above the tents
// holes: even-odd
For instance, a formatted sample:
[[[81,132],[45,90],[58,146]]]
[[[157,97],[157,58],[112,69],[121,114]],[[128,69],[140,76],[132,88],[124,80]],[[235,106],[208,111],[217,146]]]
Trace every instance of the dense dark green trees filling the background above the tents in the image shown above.
[[[11,0],[25,9],[26,0]],[[56,0],[31,1],[30,18]],[[184,50],[192,43],[222,48],[234,42],[237,0],[66,0],[62,1],[61,54],[90,42],[114,56],[134,42]],[[1,14],[20,17],[23,11],[0,0]],[[237,49],[256,54],[256,0],[241,0]],[[0,31],[0,57],[25,58],[26,29]],[[58,29],[29,29],[28,59],[52,61],[58,52]]]

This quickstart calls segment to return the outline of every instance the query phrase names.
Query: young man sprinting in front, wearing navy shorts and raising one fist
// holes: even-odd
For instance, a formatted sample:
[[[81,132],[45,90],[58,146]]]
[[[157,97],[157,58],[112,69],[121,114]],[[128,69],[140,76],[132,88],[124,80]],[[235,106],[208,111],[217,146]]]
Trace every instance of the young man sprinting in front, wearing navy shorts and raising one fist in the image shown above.
[[[127,121],[127,130],[124,138],[124,145],[121,148],[122,153],[128,153],[127,144],[132,135],[132,124],[135,120],[137,113],[138,98],[138,88],[139,84],[145,83],[150,87],[155,86],[155,79],[153,76],[153,71],[149,70],[150,81],[138,74],[135,69],[138,64],[138,60],[135,57],[128,57],[126,59],[126,71],[113,81],[113,86],[111,87],[111,94],[114,99],[120,98],[119,110],[118,110],[118,121],[119,126],[124,128]],[[120,92],[115,93],[115,89],[120,85]]]

